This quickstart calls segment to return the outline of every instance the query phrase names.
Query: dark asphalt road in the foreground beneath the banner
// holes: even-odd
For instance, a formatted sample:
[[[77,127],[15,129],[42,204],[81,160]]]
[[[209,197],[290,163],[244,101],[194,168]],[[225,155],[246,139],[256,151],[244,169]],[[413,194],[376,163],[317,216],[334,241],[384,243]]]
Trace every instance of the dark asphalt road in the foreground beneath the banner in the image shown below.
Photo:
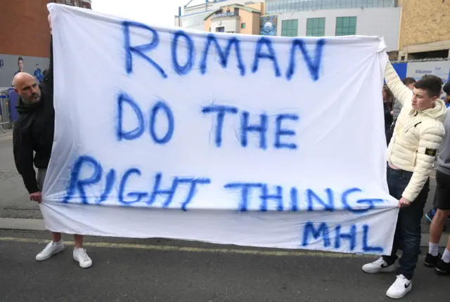
[[[8,302],[389,301],[385,291],[395,278],[394,274],[363,273],[361,265],[371,258],[217,252],[212,244],[173,245],[158,239],[89,238],[87,248],[94,265],[82,269],[72,260],[70,246],[37,262],[34,256],[44,243],[11,242],[5,237],[36,241],[48,234],[0,232],[0,301]],[[105,240],[116,244],[101,247]],[[136,245],[130,247],[130,243]],[[154,249],[167,245],[174,249]],[[449,282],[449,277],[439,277],[419,263],[413,290],[401,301],[449,301]]]

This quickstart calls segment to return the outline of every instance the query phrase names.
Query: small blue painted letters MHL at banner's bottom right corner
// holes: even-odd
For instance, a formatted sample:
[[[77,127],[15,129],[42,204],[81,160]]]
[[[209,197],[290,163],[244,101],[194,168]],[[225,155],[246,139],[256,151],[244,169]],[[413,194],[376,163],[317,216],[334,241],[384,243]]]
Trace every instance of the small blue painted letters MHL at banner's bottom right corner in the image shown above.
[[[319,227],[316,228],[314,224],[319,225]],[[362,232],[358,228],[362,228]],[[330,234],[333,234],[333,230],[330,229],[327,223],[313,223],[311,221],[305,223],[303,227],[302,247],[307,247],[309,245],[309,238],[313,237],[316,240],[321,239],[325,248],[332,247],[334,249],[340,249],[342,240],[347,240],[350,251],[354,251],[357,246],[360,246],[365,253],[383,253],[383,247],[371,247],[368,245],[368,225],[350,225],[348,232],[342,232],[342,225],[335,225],[335,240],[333,245],[330,240]],[[358,237],[359,234],[361,234],[361,237]]]

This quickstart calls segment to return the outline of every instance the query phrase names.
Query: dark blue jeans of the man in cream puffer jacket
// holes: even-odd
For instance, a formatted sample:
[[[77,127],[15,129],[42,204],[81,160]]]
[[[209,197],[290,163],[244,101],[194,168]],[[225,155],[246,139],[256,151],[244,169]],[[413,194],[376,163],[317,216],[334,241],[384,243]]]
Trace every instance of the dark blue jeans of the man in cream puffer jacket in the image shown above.
[[[412,172],[403,170],[394,170],[387,166],[387,186],[389,194],[397,199],[401,198],[406,186],[413,176]],[[383,256],[388,264],[397,261],[397,251],[403,250],[399,260],[398,273],[411,280],[414,275],[414,269],[420,254],[420,221],[423,216],[423,208],[427,202],[428,191],[430,190],[430,178],[423,185],[416,200],[411,202],[411,206],[401,208],[397,219],[397,228],[395,229],[394,244],[392,253],[389,256]]]

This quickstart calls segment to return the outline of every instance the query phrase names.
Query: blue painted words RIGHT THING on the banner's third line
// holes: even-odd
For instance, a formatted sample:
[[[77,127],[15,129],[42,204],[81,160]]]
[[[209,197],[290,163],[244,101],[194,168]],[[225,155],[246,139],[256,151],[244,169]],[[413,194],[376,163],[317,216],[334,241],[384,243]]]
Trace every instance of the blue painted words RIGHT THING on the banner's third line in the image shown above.
[[[86,169],[93,170],[89,177],[86,177]],[[127,169],[120,180],[117,179],[117,172],[115,169],[110,169],[108,173],[103,175],[103,167],[96,159],[89,156],[79,157],[75,164],[72,166],[70,172],[70,180],[63,202],[69,202],[70,199],[76,195],[79,196],[83,204],[101,204],[105,202],[108,197],[111,196],[113,188],[117,188],[117,199],[122,205],[130,205],[138,202],[143,202],[147,206],[153,206],[158,197],[163,197],[162,208],[174,206],[174,196],[176,191],[181,185],[186,185],[187,195],[181,202],[180,209],[186,211],[188,204],[190,204],[199,188],[202,185],[210,185],[212,180],[210,178],[198,178],[198,177],[174,177],[172,178],[172,185],[169,188],[162,188],[161,180],[162,173],[157,172],[153,176],[153,186],[149,184],[149,187],[153,187],[150,192],[129,192],[127,185],[131,177],[141,177],[141,170],[137,168]],[[84,177],[82,177],[84,176]],[[97,200],[89,200],[86,195],[86,189],[98,185],[101,183],[104,177],[105,188]],[[238,204],[238,211],[248,211],[248,209],[259,209],[259,211],[268,211],[269,202],[274,203],[276,211],[335,211],[336,209],[344,209],[356,214],[365,213],[371,209],[375,209],[377,203],[384,202],[383,199],[358,199],[355,197],[362,190],[359,188],[350,188],[344,192],[334,192],[332,189],[327,188],[325,194],[323,192],[315,192],[314,190],[307,189],[304,192],[299,192],[297,188],[283,188],[281,185],[268,185],[266,183],[227,183],[223,186],[226,190],[233,192],[240,192],[240,201]],[[252,195],[257,191],[257,197]],[[289,198],[285,200],[283,192],[288,192]],[[300,196],[304,197],[300,202]],[[339,197],[338,197],[339,196]],[[356,199],[356,201],[354,201]],[[250,200],[258,200],[257,207],[255,204],[251,206]],[[250,204],[250,206],[249,206]]]

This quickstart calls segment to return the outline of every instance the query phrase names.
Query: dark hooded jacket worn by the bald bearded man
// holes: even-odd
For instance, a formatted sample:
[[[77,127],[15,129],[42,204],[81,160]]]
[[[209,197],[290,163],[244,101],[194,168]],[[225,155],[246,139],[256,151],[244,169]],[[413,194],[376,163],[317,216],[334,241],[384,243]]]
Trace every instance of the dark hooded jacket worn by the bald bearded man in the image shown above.
[[[14,123],[13,152],[15,167],[23,178],[28,192],[39,192],[36,173],[33,168],[45,169],[49,166],[53,132],[55,130],[55,110],[53,109],[53,40],[50,44],[50,67],[39,84],[41,100],[36,104],[19,100],[16,106],[19,114]],[[33,151],[35,152],[33,157]]]

